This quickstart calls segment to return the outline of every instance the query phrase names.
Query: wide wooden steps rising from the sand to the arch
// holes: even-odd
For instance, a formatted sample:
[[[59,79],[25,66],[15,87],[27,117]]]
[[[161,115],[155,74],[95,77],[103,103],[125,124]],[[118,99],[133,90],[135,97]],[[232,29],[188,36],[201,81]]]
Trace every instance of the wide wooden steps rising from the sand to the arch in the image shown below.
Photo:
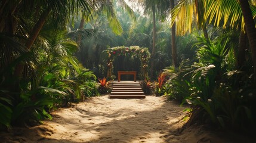
[[[113,82],[113,88],[109,98],[146,98],[140,83],[133,81]]]

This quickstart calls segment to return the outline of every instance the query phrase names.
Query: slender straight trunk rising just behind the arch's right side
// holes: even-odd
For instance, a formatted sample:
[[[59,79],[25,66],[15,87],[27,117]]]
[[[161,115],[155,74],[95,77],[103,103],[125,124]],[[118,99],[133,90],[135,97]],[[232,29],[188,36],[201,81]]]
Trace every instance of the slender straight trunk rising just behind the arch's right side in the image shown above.
[[[156,15],[155,15],[155,5],[152,6],[153,13],[153,42],[152,42],[152,57],[151,57],[151,67],[150,67],[150,77],[153,78],[154,70],[154,59],[155,59],[155,46],[156,46]]]

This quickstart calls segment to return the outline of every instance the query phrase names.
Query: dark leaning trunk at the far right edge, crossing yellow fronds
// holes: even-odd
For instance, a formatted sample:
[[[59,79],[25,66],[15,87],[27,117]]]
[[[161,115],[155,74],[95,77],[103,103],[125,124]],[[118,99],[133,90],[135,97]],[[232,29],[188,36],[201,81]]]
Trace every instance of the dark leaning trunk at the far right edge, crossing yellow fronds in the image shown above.
[[[256,28],[254,19],[252,18],[251,8],[248,0],[239,0],[240,6],[245,20],[245,27],[249,39],[249,45],[252,52],[252,62],[254,64],[254,83],[256,83]]]

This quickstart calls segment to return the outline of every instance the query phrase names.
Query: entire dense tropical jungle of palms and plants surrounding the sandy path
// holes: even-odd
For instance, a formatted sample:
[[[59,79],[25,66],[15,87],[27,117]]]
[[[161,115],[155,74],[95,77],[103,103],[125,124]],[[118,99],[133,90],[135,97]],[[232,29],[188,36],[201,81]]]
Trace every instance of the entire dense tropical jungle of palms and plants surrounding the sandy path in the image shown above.
[[[143,10],[121,0],[1,1],[0,128],[108,93],[103,51],[136,45],[151,53],[144,92],[191,104],[188,124],[255,129],[255,1],[130,2]],[[120,55],[113,73],[140,63]]]

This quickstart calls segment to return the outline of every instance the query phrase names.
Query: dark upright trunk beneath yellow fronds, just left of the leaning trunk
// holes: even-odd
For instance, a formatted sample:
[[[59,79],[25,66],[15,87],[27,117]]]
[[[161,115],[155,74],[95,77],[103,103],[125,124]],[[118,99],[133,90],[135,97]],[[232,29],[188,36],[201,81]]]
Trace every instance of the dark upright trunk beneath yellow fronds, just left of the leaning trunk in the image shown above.
[[[245,62],[246,33],[240,32],[238,51],[236,54],[236,67],[240,68]]]

